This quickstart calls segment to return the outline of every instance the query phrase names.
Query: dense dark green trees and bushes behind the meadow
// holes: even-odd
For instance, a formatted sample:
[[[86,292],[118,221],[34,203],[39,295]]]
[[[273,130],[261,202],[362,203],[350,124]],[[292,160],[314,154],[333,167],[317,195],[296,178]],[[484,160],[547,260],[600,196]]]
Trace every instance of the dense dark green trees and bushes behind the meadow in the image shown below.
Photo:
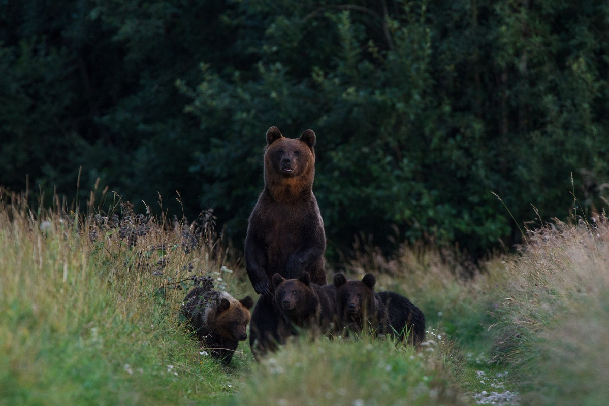
[[[239,241],[264,131],[318,133],[330,247],[357,231],[475,255],[602,205],[602,2],[188,0],[0,5],[0,184],[176,190]],[[202,70],[199,63],[203,63]],[[71,196],[69,196],[71,197]],[[175,211],[181,214],[180,211]],[[377,242],[383,243],[378,239]]]

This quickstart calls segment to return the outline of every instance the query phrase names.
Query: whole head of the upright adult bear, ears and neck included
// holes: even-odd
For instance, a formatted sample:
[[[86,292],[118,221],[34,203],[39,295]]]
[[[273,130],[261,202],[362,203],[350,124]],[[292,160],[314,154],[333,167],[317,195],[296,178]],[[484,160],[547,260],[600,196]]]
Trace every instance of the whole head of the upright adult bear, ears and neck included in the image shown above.
[[[293,139],[271,127],[266,139],[264,184],[270,188],[288,186],[294,189],[292,193],[311,188],[315,177],[315,133],[306,130],[300,138]]]

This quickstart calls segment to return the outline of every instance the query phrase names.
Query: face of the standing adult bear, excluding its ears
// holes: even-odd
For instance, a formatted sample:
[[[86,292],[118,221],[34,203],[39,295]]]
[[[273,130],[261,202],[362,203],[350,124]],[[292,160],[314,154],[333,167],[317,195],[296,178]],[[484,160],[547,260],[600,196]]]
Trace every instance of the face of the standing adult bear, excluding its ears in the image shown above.
[[[298,177],[314,162],[313,153],[305,142],[285,137],[270,144],[264,158],[274,172],[284,177]]]

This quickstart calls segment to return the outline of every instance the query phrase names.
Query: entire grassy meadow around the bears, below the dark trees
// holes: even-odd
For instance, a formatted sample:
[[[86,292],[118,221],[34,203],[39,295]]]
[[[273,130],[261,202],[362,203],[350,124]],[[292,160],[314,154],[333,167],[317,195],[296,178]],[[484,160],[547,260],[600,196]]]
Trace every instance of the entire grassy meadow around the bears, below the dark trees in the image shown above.
[[[464,271],[451,254],[362,250],[342,268],[426,315],[420,351],[391,338],[294,340],[230,366],[180,326],[194,275],[256,298],[211,212],[193,223],[136,214],[0,208],[0,405],[603,405],[609,399],[609,226],[555,223],[518,254]],[[329,270],[329,276],[331,270]],[[501,403],[503,402],[503,403]]]

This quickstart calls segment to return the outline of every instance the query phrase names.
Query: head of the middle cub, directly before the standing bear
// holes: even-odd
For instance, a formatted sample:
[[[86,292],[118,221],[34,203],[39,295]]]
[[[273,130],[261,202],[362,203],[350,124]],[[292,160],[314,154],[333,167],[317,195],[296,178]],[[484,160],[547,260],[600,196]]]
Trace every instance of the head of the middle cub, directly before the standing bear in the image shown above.
[[[318,312],[319,298],[311,287],[311,275],[303,271],[298,279],[273,274],[275,306],[291,320],[304,320]]]

